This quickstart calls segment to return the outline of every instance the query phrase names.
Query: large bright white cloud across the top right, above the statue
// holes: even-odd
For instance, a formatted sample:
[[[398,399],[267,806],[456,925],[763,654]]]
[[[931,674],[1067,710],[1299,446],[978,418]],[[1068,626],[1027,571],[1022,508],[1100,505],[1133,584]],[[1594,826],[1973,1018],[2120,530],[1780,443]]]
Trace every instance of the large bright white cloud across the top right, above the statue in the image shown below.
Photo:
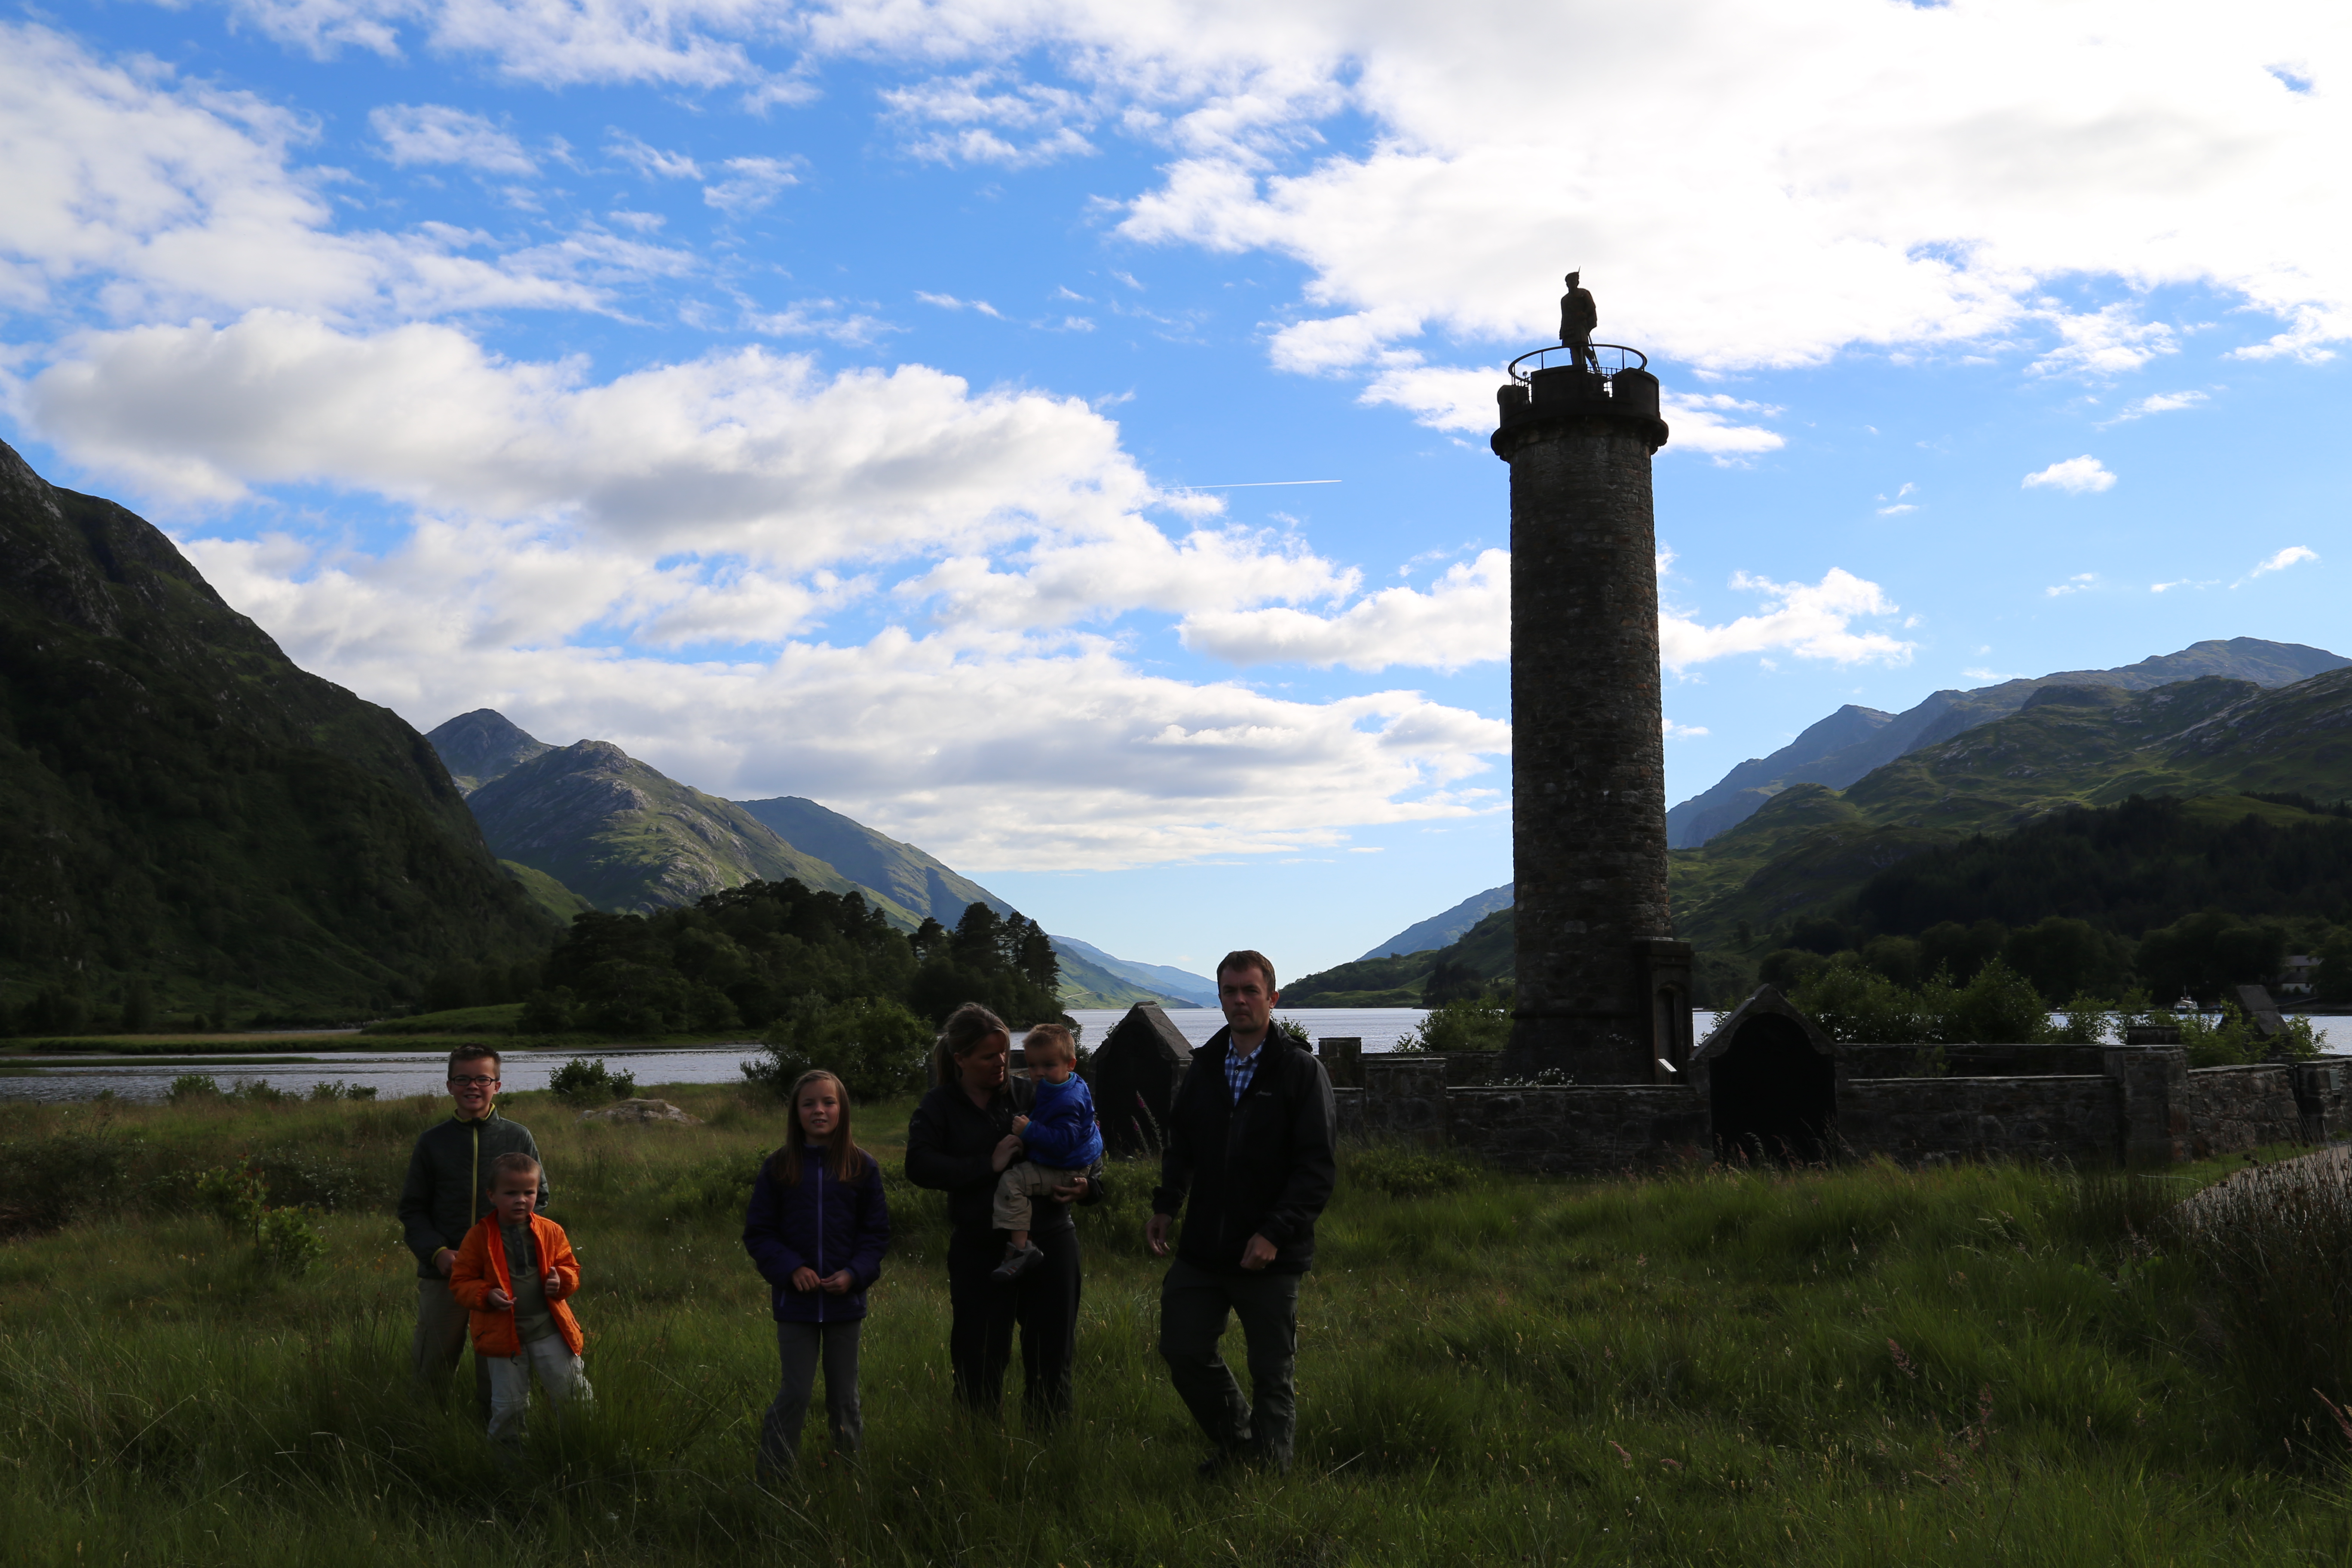
[[[1399,322],[1383,348],[1421,329],[1543,341],[1569,261],[1602,296],[1604,336],[1710,369],[1994,343],[2117,374],[2173,348],[2173,327],[2129,303],[2051,301],[2084,277],[2136,299],[2225,289],[2281,322],[2249,355],[2324,357],[2352,336],[2352,174],[2333,158],[2352,110],[2277,75],[2338,38],[2328,0],[2074,0],[2063,21],[1842,0],[228,2],[313,52],[412,38],[548,85],[790,96],[755,63],[776,45],[804,63],[962,68],[887,89],[891,118],[934,127],[934,155],[1063,155],[1065,134],[1098,125],[1167,146],[1164,183],[1127,209],[1131,237],[1298,256],[1315,308]],[[1526,61],[1571,56],[1590,80],[1644,85],[1637,136],[1496,113]],[[1011,66],[1035,59],[1051,63],[1035,80]],[[1362,150],[1322,139],[1341,113],[1369,122]]]

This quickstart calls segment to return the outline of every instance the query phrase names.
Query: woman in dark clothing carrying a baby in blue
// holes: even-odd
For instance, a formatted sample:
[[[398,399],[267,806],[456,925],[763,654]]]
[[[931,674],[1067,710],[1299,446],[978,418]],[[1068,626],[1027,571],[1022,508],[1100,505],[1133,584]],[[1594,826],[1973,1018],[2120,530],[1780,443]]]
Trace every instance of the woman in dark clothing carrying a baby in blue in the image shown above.
[[[1035,1152],[1023,1143],[1030,1117],[1042,1117],[1042,1081],[1054,1081],[1049,1103],[1068,1103],[1068,1084],[1075,1081],[1063,1060],[1075,1056],[1068,1032],[1030,1032],[1030,1079],[1011,1077],[1011,1044],[1004,1020],[976,1001],[948,1016],[931,1053],[934,1086],[906,1128],[906,1178],[948,1194],[948,1361],[955,1396],[976,1410],[997,1408],[1018,1326],[1023,1403],[1033,1418],[1054,1420],[1070,1410],[1077,1352],[1080,1272],[1070,1204],[1096,1204],[1103,1187],[1098,1168],[1084,1164],[1084,1147],[1061,1147],[1061,1140],[1049,1147],[1044,1126],[1035,1133]],[[1011,1182],[1030,1208],[1028,1248],[1014,1246],[1018,1227],[997,1211],[1002,1175],[1018,1161],[1061,1178]]]

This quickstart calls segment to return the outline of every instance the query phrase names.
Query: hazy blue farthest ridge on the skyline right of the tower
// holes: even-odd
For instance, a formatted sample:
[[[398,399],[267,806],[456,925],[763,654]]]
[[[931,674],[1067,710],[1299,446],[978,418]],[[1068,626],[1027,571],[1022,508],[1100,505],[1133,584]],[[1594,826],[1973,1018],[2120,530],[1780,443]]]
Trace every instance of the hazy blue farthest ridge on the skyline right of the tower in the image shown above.
[[[2117,670],[2060,670],[1973,691],[1936,691],[1903,712],[1879,712],[1849,703],[1811,724],[1771,757],[1750,757],[1708,790],[1668,811],[1665,842],[1675,849],[1698,849],[1755,816],[1764,802],[1792,785],[1816,783],[1844,790],[1896,757],[2018,712],[2044,686],[2152,691],[2199,677],[2288,686],[2345,665],[2352,665],[2352,658],[2326,649],[2232,637],[2227,642],[2197,642],[2178,654],[2157,654]]]

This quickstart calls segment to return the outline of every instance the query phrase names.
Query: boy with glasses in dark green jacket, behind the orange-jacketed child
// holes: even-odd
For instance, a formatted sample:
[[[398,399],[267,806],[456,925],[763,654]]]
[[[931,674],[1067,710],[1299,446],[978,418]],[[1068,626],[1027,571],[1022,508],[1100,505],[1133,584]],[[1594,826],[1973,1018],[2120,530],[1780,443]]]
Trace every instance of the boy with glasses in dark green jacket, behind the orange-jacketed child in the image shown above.
[[[456,1114],[416,1135],[409,1175],[400,1185],[400,1232],[416,1253],[416,1338],[409,1363],[416,1382],[433,1394],[449,1387],[449,1373],[466,1349],[466,1307],[449,1293],[449,1267],[473,1222],[489,1213],[482,1187],[499,1154],[539,1159],[532,1128],[499,1114],[499,1053],[459,1046],[449,1053],[449,1095]],[[539,1168],[539,1206],[548,1206],[546,1164]],[[475,1394],[489,1408],[489,1368],[475,1356]]]

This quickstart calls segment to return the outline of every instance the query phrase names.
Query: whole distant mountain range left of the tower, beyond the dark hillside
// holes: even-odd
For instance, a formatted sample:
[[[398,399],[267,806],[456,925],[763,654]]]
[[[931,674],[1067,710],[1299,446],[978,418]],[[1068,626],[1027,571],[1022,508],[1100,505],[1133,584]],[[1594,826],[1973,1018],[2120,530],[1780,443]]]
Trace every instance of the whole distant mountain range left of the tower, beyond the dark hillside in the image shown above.
[[[981,903],[1014,907],[936,856],[840,811],[779,795],[720,799],[663,776],[609,741],[548,745],[492,708],[435,726],[482,835],[550,912],[579,905],[652,912],[746,882],[793,877],[826,893],[861,893],[901,931],[955,926]],[[1202,976],[1115,959],[1054,938],[1063,1006],[1195,1006],[1216,999]]]

